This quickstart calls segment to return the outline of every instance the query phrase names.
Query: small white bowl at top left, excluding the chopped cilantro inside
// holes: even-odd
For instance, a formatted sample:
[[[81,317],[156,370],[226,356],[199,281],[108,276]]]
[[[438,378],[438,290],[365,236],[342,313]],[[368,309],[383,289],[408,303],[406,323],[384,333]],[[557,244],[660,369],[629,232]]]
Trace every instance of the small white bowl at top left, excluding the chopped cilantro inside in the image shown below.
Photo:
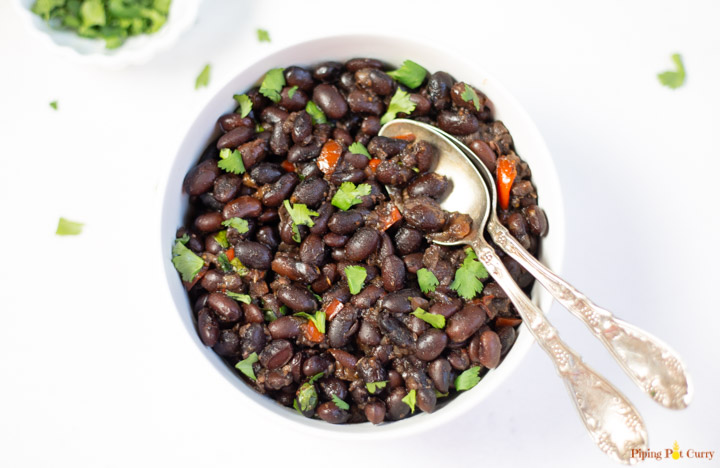
[[[51,28],[31,11],[35,0],[16,0],[15,5],[28,29],[49,47],[69,59],[118,70],[147,63],[155,54],[175,44],[180,35],[195,23],[200,1],[172,0],[168,19],[159,31],[133,36],[116,49],[105,48],[102,39],[88,39],[73,31]]]

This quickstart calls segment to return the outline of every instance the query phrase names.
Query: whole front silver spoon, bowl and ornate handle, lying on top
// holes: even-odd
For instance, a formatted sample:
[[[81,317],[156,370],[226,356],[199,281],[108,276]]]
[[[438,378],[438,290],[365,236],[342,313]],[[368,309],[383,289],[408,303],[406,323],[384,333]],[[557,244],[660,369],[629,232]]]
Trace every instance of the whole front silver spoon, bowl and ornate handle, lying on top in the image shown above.
[[[441,157],[435,171],[455,184],[455,189],[443,200],[442,207],[467,213],[473,220],[472,230],[464,239],[434,242],[448,246],[470,245],[473,248],[488,273],[507,293],[530,333],[552,359],[595,444],[614,460],[628,464],[637,462],[638,459],[632,457],[632,450],[647,449],[647,431],[638,411],[618,389],[585,364],[560,339],[557,330],[523,293],[485,240],[483,232],[490,216],[491,198],[480,172],[451,140],[433,127],[426,128],[414,121],[394,120],[385,124],[379,135],[393,137],[408,133],[438,149]],[[460,181],[463,182],[462,190],[458,187]]]

